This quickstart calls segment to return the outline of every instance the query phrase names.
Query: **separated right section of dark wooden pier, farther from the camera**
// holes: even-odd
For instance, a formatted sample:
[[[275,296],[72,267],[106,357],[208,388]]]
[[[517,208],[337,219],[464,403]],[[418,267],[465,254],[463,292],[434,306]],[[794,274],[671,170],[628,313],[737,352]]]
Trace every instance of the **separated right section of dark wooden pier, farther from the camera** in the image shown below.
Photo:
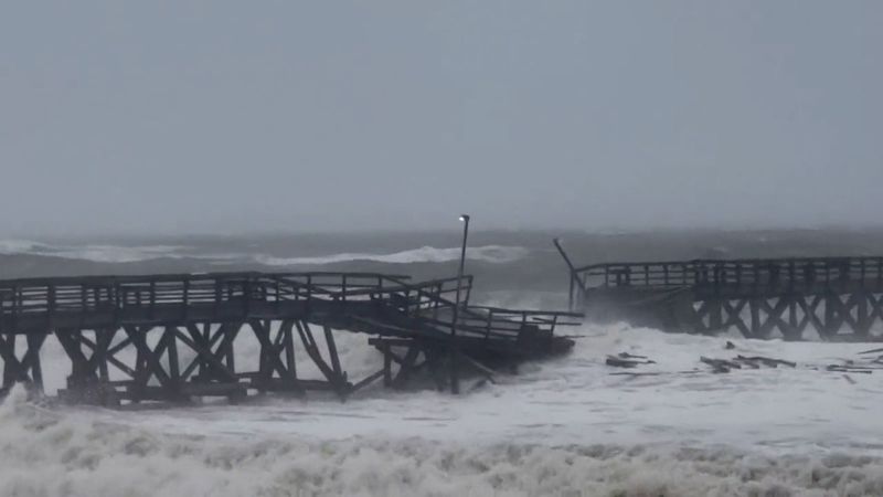
[[[571,272],[589,318],[747,338],[877,341],[883,257],[640,262]]]

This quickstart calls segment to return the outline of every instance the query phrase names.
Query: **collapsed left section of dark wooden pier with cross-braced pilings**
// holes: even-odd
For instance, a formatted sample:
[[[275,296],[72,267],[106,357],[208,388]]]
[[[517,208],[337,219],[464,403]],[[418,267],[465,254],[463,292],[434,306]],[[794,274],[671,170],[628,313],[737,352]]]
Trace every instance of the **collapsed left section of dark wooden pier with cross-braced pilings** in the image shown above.
[[[43,390],[41,350],[50,335],[71,363],[60,396],[100,404],[309,390],[347,398],[381,379],[404,387],[421,370],[447,389],[460,370],[487,374],[573,346],[554,331],[579,315],[471,306],[471,286],[465,276],[455,336],[457,278],[224,273],[0,281],[2,391],[17,382]],[[368,335],[366,346],[382,352],[375,373],[348,377],[334,340],[341,332]],[[259,343],[252,371],[236,364],[247,334]],[[298,374],[300,347],[320,379]]]

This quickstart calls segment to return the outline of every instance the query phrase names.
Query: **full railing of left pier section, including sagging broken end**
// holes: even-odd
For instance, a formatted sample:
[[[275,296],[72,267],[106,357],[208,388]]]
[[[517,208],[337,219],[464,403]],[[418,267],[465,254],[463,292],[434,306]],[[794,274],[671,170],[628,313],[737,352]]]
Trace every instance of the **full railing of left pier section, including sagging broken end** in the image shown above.
[[[311,315],[321,308],[341,318],[394,315],[404,319],[406,326],[442,338],[451,334],[454,327],[457,285],[456,277],[414,283],[407,276],[376,273],[213,273],[0,281],[0,330],[163,319],[237,320],[278,316],[286,314],[286,309],[288,314]],[[556,326],[574,325],[581,316],[471,306],[471,288],[472,276],[464,276],[456,324],[457,335],[462,337],[517,342],[531,334],[551,336]]]

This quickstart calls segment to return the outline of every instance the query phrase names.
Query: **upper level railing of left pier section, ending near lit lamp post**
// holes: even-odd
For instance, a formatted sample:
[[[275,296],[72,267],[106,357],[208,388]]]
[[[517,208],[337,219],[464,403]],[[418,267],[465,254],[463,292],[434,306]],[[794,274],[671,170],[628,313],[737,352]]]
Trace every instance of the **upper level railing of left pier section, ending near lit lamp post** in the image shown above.
[[[327,300],[345,304],[401,296],[405,311],[448,304],[456,278],[413,284],[375,273],[214,273],[157,276],[85,276],[0,282],[0,316],[123,311],[162,306],[248,305]],[[468,299],[472,277],[462,278]]]

